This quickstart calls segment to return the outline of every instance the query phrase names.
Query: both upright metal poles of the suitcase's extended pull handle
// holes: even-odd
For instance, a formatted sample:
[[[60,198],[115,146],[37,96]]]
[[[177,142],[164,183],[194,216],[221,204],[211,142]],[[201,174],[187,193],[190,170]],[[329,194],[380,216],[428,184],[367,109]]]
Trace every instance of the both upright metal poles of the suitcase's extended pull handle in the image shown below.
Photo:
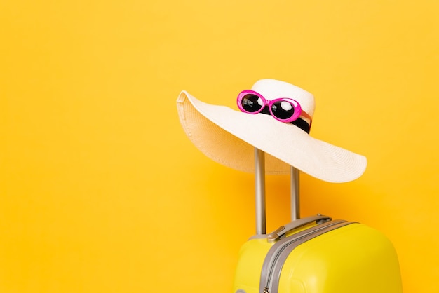
[[[291,220],[299,219],[299,170],[290,166]],[[256,233],[266,233],[265,153],[255,147]],[[312,222],[312,221],[311,221]]]

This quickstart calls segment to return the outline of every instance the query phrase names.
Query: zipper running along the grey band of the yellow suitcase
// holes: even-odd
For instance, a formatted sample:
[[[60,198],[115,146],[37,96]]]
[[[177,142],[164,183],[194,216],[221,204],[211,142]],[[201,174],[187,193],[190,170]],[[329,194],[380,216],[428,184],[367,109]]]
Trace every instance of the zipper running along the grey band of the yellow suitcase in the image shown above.
[[[285,242],[283,242],[281,245],[279,245],[278,247],[275,248],[276,251],[274,252],[273,256],[271,256],[270,259],[268,260],[269,270],[268,270],[268,273],[266,275],[266,282],[264,284],[264,289],[263,289],[262,293],[270,293],[271,292],[271,289],[272,289],[271,287],[273,285],[272,279],[273,279],[274,268],[276,268],[276,265],[278,264],[279,257],[281,256],[282,252],[286,248],[288,248],[288,246],[290,246],[293,243],[300,242],[300,240],[303,240],[304,238],[307,238],[308,236],[311,236],[311,238],[319,236],[320,234],[325,233],[326,232],[325,230],[330,231],[332,229],[338,228],[338,227],[335,227],[335,228],[332,228],[332,227],[339,225],[339,224],[344,224],[345,222],[346,222],[345,220],[331,221],[331,222],[328,222],[326,225],[322,224],[321,226],[317,226],[317,228],[313,229],[312,231],[304,231],[305,233],[302,233],[302,234],[297,235],[297,236],[291,236],[290,239],[286,238]],[[321,232],[321,233],[319,233],[319,232]],[[308,238],[310,238],[310,237],[308,237]],[[309,239],[306,239],[306,240],[309,240]],[[305,242],[306,240],[304,240],[303,242]],[[297,243],[297,245],[299,245],[299,244],[301,244],[301,243]],[[267,261],[267,260],[265,260],[265,261]],[[283,261],[285,261],[285,260],[283,260]]]

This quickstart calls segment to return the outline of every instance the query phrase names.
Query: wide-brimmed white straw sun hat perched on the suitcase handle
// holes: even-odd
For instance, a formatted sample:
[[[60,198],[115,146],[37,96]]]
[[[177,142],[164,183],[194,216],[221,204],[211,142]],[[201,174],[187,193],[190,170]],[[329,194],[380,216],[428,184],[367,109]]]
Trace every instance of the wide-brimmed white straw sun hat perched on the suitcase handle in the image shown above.
[[[303,114],[298,120],[302,125],[305,121],[307,129],[299,128],[295,122],[283,123],[271,115],[207,104],[182,91],[177,99],[180,123],[203,154],[229,168],[254,172],[256,147],[266,154],[268,175],[288,174],[290,165],[326,182],[349,182],[363,175],[367,165],[364,156],[308,134],[315,109],[311,93],[275,79],[259,80],[251,90],[267,100],[296,100]]]

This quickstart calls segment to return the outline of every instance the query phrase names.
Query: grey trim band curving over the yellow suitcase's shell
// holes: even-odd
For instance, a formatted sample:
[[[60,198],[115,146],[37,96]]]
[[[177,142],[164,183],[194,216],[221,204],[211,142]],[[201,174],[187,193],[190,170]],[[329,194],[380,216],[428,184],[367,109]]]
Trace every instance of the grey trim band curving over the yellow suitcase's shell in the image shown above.
[[[261,281],[259,283],[260,293],[278,293],[279,278],[285,260],[295,247],[305,243],[323,233],[335,230],[342,226],[353,224],[345,220],[335,220],[313,226],[310,229],[300,231],[290,237],[283,238],[274,244],[267,253],[262,265]]]

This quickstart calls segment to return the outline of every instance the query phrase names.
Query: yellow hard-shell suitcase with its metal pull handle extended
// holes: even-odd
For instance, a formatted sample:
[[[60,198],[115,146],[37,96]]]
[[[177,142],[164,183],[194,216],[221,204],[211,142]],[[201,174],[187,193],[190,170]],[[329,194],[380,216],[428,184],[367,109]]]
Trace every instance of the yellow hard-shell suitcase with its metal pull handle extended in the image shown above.
[[[299,219],[295,168],[293,221],[266,234],[264,154],[255,154],[257,235],[239,252],[234,293],[403,292],[396,251],[382,233],[320,214]]]

